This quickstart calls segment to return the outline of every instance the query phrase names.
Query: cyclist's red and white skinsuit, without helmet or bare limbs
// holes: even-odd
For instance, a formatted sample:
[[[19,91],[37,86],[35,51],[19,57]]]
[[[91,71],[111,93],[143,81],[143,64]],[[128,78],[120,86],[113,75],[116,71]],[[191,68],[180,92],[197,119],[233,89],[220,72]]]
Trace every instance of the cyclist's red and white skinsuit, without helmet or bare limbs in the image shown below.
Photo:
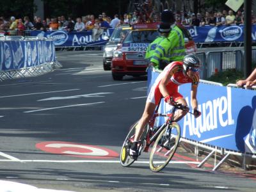
[[[169,79],[168,84],[166,85],[166,88],[170,94],[170,96],[174,97],[174,100],[178,100],[181,97],[183,97],[179,92],[178,92],[178,87],[181,84],[185,83],[192,83],[193,86],[198,86],[199,82],[199,76],[193,77],[191,79],[190,77],[186,76],[183,72],[183,67],[182,67],[182,61],[174,61],[167,65],[163,72],[159,74],[157,77],[155,83],[153,84],[150,93],[148,94],[148,99],[147,102],[152,102],[154,104],[158,104],[161,100],[161,92],[159,90],[159,84],[161,80],[163,79],[164,76],[168,75],[172,71],[173,75]]]

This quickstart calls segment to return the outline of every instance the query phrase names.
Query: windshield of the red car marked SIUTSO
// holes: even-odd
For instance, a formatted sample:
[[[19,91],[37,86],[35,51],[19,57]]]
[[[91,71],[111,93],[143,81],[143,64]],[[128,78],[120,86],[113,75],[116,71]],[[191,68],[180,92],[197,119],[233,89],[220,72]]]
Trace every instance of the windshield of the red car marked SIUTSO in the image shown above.
[[[124,43],[151,43],[156,39],[157,35],[158,32],[156,30],[131,31],[131,33],[126,36]]]

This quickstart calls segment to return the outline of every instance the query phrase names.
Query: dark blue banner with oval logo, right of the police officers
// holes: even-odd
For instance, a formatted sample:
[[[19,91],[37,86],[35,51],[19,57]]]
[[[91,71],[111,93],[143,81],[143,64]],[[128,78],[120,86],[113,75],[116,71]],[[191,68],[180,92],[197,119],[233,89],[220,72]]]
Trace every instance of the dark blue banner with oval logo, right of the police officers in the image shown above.
[[[203,42],[243,42],[244,25],[239,26],[186,26],[196,43]],[[256,25],[252,25],[252,41],[256,41]]]

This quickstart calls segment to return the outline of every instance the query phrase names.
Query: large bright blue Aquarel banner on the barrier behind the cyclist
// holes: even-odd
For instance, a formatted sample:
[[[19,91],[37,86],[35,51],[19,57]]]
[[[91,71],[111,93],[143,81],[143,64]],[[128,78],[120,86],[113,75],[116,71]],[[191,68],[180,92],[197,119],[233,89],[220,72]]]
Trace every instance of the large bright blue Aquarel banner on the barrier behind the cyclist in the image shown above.
[[[152,72],[151,70],[149,72]],[[151,77],[156,77],[152,72]],[[154,82],[149,79],[149,82]],[[190,104],[191,84],[183,84],[179,92]],[[188,113],[179,121],[181,136],[201,143],[256,154],[256,96],[253,90],[200,83],[198,110],[195,118]],[[166,113],[172,106],[162,100],[160,111]],[[163,124],[162,118],[159,124]]]

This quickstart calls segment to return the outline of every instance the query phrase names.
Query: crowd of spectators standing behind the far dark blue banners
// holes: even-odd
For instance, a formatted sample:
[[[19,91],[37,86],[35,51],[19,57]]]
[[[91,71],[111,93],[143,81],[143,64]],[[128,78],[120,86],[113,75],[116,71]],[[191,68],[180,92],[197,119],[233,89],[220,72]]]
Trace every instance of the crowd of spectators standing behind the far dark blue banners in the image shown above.
[[[92,30],[93,36],[97,38],[104,29],[116,28],[121,25],[132,25],[141,21],[151,22],[159,21],[161,15],[154,12],[150,15],[151,18],[146,19],[145,15],[140,15],[138,12],[125,13],[124,15],[114,15],[113,19],[102,12],[98,17],[95,15],[86,15],[83,17],[77,17],[73,20],[71,17],[68,19],[64,15],[60,17],[46,18],[42,20],[40,17],[34,17],[33,20],[29,20],[28,16],[23,19],[15,17],[4,18],[0,17],[0,31],[10,31],[10,33],[16,33],[15,31],[27,31],[27,30],[60,30],[65,29],[67,31],[87,31]],[[204,12],[202,13],[190,13],[190,12],[175,12],[176,22],[184,26],[221,26],[221,25],[238,25],[244,23],[244,12],[238,10],[234,13],[232,10],[223,10],[221,12]],[[252,12],[252,23],[256,23],[256,17]]]

